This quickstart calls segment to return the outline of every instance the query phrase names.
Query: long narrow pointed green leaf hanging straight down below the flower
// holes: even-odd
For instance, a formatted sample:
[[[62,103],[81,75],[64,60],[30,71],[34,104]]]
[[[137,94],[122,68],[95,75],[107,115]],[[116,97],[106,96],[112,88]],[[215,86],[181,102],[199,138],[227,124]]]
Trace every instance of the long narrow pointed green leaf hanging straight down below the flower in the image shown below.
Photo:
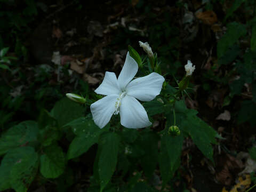
[[[100,191],[102,191],[110,181],[116,169],[119,136],[114,132],[103,134],[100,138],[99,147],[99,177]]]

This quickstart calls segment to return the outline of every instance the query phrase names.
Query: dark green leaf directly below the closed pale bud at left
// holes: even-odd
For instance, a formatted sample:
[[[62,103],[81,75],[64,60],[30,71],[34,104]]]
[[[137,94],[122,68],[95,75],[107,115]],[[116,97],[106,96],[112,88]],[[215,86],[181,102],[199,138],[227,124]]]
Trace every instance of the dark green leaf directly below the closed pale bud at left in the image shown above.
[[[68,98],[64,98],[55,103],[51,115],[57,119],[59,126],[63,126],[73,119],[83,116],[84,107]]]

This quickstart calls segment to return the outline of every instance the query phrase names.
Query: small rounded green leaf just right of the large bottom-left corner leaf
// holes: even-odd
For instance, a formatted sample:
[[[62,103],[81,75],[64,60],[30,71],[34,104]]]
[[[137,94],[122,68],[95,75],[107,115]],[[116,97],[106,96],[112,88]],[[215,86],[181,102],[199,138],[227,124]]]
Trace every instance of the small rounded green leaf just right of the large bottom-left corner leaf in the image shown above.
[[[57,178],[65,170],[66,156],[57,145],[45,148],[40,157],[40,172],[45,178]]]

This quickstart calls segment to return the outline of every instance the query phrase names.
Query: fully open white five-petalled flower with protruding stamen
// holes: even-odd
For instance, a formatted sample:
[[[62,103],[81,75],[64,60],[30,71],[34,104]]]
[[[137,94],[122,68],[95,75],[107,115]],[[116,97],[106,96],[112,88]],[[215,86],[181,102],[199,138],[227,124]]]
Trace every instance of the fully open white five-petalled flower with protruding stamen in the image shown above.
[[[95,92],[107,96],[91,105],[93,120],[100,128],[110,121],[113,114],[118,113],[121,124],[127,128],[135,129],[151,125],[146,110],[137,99],[153,100],[162,89],[164,77],[151,73],[131,81],[137,71],[138,64],[128,52],[118,78],[115,73],[106,72],[103,82]]]

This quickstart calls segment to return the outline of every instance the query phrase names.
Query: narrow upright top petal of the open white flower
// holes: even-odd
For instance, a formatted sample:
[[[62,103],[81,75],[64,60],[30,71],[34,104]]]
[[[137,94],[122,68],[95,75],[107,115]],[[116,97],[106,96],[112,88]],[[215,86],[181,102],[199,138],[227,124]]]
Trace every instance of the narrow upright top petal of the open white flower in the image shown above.
[[[125,90],[126,85],[133,79],[133,77],[137,74],[138,64],[137,62],[130,56],[129,52],[126,55],[126,59],[124,62],[124,67],[121,70],[121,73],[118,76],[118,83],[120,89],[122,91]]]

